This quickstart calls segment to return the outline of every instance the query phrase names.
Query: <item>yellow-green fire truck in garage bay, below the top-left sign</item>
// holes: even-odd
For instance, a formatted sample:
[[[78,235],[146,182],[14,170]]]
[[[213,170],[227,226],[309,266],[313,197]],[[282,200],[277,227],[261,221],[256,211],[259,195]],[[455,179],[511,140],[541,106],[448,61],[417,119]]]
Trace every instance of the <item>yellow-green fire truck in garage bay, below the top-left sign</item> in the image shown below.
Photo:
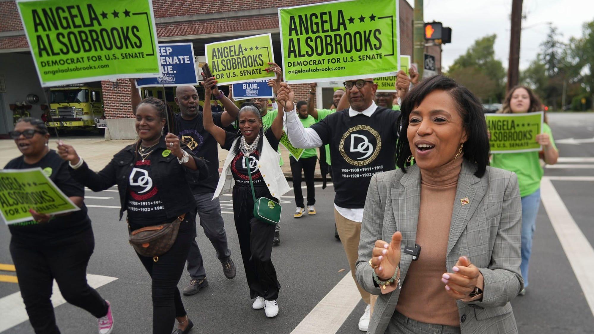
[[[90,86],[61,86],[49,89],[48,127],[58,129],[96,128],[103,116],[103,94]]]

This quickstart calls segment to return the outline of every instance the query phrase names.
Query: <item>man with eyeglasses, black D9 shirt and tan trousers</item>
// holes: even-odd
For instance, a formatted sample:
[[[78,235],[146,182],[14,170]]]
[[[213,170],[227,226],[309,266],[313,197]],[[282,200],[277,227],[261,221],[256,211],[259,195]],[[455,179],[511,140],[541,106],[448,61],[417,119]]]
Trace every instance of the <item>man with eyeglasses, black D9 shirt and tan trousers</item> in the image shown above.
[[[355,279],[367,188],[373,174],[396,168],[400,112],[375,104],[377,84],[371,78],[347,80],[343,84],[350,108],[327,115],[309,128],[303,127],[295,111],[286,112],[285,128],[295,147],[309,149],[330,144],[336,192],[334,221]],[[375,296],[357,287],[367,304],[359,319],[359,330],[366,331]]]

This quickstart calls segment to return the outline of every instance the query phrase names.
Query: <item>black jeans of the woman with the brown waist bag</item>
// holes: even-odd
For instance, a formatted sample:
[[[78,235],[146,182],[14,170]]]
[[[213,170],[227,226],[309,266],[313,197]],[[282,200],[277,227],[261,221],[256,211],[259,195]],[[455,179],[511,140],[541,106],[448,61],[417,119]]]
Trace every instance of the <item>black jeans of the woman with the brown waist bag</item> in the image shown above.
[[[159,261],[152,257],[138,255],[152,279],[153,296],[153,334],[170,334],[175,323],[175,317],[186,315],[178,282],[184,272],[185,261],[188,257],[189,245],[195,236],[194,224],[188,219],[193,218],[189,213],[179,225],[178,238],[167,253],[159,256]],[[144,227],[129,223],[132,231]]]

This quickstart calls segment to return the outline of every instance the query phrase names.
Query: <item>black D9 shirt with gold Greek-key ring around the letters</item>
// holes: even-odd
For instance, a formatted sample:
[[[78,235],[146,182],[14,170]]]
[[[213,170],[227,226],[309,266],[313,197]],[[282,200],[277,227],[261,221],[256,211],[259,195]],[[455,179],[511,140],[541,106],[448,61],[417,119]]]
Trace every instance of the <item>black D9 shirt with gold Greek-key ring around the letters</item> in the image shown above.
[[[328,115],[311,128],[330,144],[334,203],[361,209],[371,176],[396,168],[399,111],[377,107],[371,116],[349,116],[349,110]]]

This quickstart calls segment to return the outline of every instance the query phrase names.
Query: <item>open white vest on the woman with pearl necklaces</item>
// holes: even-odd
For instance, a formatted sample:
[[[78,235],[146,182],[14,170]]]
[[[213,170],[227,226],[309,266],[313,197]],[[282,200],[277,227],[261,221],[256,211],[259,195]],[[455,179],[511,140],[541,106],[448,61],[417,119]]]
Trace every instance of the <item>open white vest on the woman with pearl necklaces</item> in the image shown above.
[[[235,184],[235,180],[233,179],[233,174],[231,173],[231,162],[235,157],[235,152],[233,149],[237,144],[237,141],[240,137],[233,141],[231,145],[231,150],[227,155],[227,159],[225,159],[225,165],[223,165],[223,172],[219,178],[219,184],[217,184],[217,189],[214,191],[214,198],[219,197],[222,194],[228,194],[231,192],[233,185]],[[280,153],[275,151],[266,137],[262,140],[262,152],[260,153],[260,162],[258,162],[258,169],[262,174],[262,178],[264,179],[264,183],[268,187],[268,191],[272,197],[276,197],[280,200],[280,196],[283,196],[290,190],[289,183],[285,178],[285,174],[283,174],[283,170],[279,166],[280,163]],[[249,166],[248,166],[249,168]]]

